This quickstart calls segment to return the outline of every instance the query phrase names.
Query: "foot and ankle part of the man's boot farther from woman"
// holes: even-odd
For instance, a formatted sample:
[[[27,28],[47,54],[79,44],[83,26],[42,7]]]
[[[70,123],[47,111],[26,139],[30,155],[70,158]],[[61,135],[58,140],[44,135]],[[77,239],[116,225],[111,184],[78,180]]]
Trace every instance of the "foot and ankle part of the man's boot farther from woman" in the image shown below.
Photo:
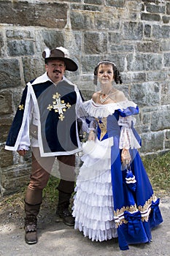
[[[24,229],[26,231],[25,241],[27,244],[36,244],[38,241],[36,235],[36,222],[37,219],[35,216],[28,216],[25,218]]]

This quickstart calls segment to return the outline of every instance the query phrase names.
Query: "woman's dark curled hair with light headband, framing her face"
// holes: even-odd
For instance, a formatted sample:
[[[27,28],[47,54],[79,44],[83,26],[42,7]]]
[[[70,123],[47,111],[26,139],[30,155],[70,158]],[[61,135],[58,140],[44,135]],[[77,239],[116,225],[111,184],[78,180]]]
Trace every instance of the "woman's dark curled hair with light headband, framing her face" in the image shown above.
[[[116,65],[112,61],[109,61],[109,60],[106,59],[104,61],[100,61],[94,69],[93,83],[95,85],[97,85],[97,73],[98,73],[98,67],[99,67],[100,64],[106,64],[106,65],[111,64],[112,67],[113,67],[115,83],[120,83],[120,84],[123,83],[123,81],[120,77],[120,72],[117,69]]]

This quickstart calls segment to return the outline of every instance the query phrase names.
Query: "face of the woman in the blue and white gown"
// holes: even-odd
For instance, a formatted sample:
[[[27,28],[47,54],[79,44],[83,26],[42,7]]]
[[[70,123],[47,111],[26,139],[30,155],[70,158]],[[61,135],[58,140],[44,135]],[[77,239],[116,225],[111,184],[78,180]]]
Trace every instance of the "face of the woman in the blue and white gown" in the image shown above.
[[[100,64],[98,67],[98,81],[101,84],[112,83],[114,72],[112,64]]]

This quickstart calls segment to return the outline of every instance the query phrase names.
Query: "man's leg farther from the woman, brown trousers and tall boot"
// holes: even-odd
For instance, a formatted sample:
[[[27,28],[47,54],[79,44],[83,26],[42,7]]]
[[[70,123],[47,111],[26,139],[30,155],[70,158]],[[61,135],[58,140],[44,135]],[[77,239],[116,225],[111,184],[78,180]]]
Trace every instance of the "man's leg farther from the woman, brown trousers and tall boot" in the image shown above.
[[[30,183],[25,197],[25,240],[36,244],[36,222],[42,203],[42,190],[46,187],[55,157],[40,157],[39,148],[33,149]]]

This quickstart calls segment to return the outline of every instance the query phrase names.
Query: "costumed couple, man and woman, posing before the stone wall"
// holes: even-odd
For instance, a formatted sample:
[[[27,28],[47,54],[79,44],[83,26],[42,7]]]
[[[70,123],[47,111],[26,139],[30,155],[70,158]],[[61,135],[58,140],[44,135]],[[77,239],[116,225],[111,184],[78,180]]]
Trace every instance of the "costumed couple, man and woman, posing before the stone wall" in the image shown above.
[[[94,83],[100,83],[101,90],[83,102],[77,86],[64,76],[65,70],[77,70],[68,51],[45,49],[42,56],[46,72],[26,85],[5,146],[21,156],[30,145],[33,152],[25,198],[26,243],[37,242],[36,222],[42,190],[55,157],[61,174],[57,214],[66,225],[74,225],[93,241],[118,237],[123,250],[128,249],[128,244],[150,242],[152,227],[163,219],[159,200],[137,151],[140,138],[134,129],[134,115],[139,109],[112,85],[114,81],[122,83],[116,65],[108,60],[97,64]],[[89,136],[82,146],[83,165],[77,176],[70,213],[75,154],[81,150],[78,119],[82,127],[87,121]]]

